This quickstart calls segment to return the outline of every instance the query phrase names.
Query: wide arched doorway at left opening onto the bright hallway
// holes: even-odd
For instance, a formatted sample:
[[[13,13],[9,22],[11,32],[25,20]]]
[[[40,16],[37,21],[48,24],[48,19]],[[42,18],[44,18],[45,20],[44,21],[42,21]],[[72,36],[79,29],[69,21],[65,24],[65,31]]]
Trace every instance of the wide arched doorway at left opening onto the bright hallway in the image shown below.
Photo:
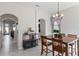
[[[18,18],[13,14],[3,14],[1,20],[1,48],[5,50],[17,48]]]

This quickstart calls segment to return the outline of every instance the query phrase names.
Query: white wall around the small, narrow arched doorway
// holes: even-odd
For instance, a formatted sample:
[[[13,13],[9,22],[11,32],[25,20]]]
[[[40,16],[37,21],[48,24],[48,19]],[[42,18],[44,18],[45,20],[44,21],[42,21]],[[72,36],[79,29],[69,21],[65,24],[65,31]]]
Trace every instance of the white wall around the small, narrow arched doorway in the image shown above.
[[[44,8],[44,7],[42,7]],[[43,18],[46,23],[46,35],[51,34],[51,22],[50,22],[50,14],[42,8],[38,8],[37,10],[37,21],[40,18]],[[38,30],[38,29],[37,29]]]

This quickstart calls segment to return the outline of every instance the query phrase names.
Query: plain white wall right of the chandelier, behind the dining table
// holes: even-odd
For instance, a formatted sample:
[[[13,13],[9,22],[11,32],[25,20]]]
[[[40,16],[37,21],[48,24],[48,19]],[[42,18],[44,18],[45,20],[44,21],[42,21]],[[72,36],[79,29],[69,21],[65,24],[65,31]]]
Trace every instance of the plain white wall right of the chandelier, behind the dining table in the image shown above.
[[[79,34],[79,6],[63,10],[62,13],[64,14],[61,23],[62,32]]]

